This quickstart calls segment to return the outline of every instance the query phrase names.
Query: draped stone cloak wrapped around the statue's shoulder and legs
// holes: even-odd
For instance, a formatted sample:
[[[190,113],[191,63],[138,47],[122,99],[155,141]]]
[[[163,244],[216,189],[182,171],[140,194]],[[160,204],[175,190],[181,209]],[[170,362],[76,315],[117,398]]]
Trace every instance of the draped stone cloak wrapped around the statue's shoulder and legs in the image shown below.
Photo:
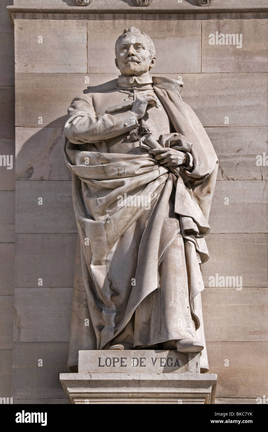
[[[66,164],[73,172],[73,204],[79,232],[68,359],[70,370],[76,370],[79,349],[107,349],[134,312],[138,335],[136,346],[140,348],[144,338],[148,345],[164,342],[157,339],[160,318],[157,299],[161,292],[159,265],[164,251],[180,233],[196,340],[204,345],[201,371],[208,371],[201,305],[204,283],[200,264],[209,257],[205,235],[210,230],[208,216],[218,160],[201,122],[182,101],[181,85],[170,78],[152,79],[154,92],[176,131],[160,137],[159,143],[190,152],[193,159],[190,171],[180,167],[180,175],[175,176],[149,153],[107,153],[101,151],[101,142],[92,147],[90,141],[87,146],[85,140],[80,142],[70,136],[69,140],[66,139],[64,152]],[[116,92],[116,85],[117,80],[113,80],[91,87],[84,92],[84,98],[76,98],[69,111],[66,130],[74,120],[76,122],[92,114],[87,108],[87,98],[92,100],[107,92]],[[126,120],[124,116],[123,121]],[[144,206],[118,206],[118,196],[125,193],[150,196],[150,209]],[[170,214],[175,215],[178,222],[177,225],[171,224],[169,229]],[[142,234],[138,222],[142,226]],[[133,226],[135,229],[131,231]],[[126,250],[120,248],[120,241],[126,232],[130,233],[130,237],[133,235],[129,238],[129,250],[135,248],[133,262],[129,265],[131,270],[127,268]],[[135,232],[138,233],[136,237]],[[114,262],[117,263],[117,276]],[[180,267],[178,262],[173,272],[180,271]],[[155,304],[152,305],[152,302]],[[139,317],[142,321],[146,313],[148,316],[148,308],[148,322],[140,324]],[[148,332],[146,337],[145,328]],[[172,331],[168,337],[174,339]],[[182,331],[180,337],[189,337],[189,334]]]

